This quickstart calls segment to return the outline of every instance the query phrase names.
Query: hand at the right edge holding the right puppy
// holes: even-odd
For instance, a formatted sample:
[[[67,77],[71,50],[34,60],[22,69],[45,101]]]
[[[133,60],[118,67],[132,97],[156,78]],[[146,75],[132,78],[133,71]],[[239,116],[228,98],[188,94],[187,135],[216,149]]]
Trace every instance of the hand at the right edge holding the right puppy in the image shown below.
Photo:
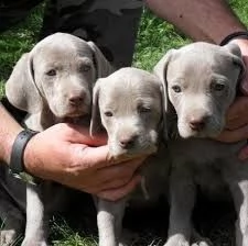
[[[248,41],[234,40],[233,42],[240,47],[247,69],[239,88],[242,96],[238,97],[231,104],[227,113],[226,128],[217,137],[218,141],[226,143],[234,143],[248,138]],[[248,158],[248,146],[240,150],[239,158]]]

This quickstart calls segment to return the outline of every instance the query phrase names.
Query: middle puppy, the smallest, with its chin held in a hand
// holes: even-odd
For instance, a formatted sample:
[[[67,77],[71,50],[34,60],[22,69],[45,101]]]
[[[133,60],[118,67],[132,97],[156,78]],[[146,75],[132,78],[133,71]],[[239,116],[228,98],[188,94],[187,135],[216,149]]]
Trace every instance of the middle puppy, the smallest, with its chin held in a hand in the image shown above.
[[[159,148],[144,160],[143,190],[139,187],[117,202],[95,199],[100,246],[125,244],[121,231],[127,202],[152,203],[166,190],[166,148],[159,144],[163,108],[162,85],[148,71],[127,67],[97,80],[90,128],[95,135],[103,124],[108,134],[110,157],[129,159],[154,154]]]

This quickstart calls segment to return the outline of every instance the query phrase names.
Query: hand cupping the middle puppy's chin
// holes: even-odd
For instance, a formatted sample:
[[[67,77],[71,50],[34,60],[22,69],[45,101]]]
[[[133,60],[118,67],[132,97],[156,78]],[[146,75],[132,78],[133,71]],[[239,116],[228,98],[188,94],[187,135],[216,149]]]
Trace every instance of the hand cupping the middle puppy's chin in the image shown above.
[[[114,160],[105,136],[93,139],[88,130],[65,123],[33,136],[24,150],[30,174],[108,200],[134,189],[140,181],[136,170],[143,160]]]

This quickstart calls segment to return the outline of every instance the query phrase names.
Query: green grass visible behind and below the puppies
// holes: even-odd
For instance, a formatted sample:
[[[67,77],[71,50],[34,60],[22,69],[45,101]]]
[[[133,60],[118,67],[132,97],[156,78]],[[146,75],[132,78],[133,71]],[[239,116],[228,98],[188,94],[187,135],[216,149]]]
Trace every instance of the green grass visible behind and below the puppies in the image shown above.
[[[247,0],[230,0],[237,15],[248,26]],[[32,14],[12,30],[0,34],[0,96],[4,93],[4,81],[20,56],[29,52],[36,42],[42,24],[43,7],[34,9]],[[151,70],[153,65],[170,48],[176,48],[191,41],[176,32],[173,25],[144,11],[136,45],[133,66]],[[66,220],[51,220],[51,239],[54,246],[95,246],[96,233],[87,234],[72,228]],[[159,238],[157,238],[159,241]],[[152,242],[152,241],[151,241]],[[151,243],[151,245],[155,245]],[[157,244],[158,245],[158,244]]]

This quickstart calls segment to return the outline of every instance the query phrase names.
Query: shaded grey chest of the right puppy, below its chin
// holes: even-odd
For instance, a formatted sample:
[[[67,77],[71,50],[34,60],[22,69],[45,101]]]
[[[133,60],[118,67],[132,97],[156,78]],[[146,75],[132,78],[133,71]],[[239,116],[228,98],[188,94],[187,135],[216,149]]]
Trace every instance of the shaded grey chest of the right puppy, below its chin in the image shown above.
[[[172,170],[190,174],[194,183],[209,194],[207,197],[219,200],[228,190],[224,181],[225,169],[238,168],[236,156],[242,145],[197,138],[172,141],[169,143]]]

